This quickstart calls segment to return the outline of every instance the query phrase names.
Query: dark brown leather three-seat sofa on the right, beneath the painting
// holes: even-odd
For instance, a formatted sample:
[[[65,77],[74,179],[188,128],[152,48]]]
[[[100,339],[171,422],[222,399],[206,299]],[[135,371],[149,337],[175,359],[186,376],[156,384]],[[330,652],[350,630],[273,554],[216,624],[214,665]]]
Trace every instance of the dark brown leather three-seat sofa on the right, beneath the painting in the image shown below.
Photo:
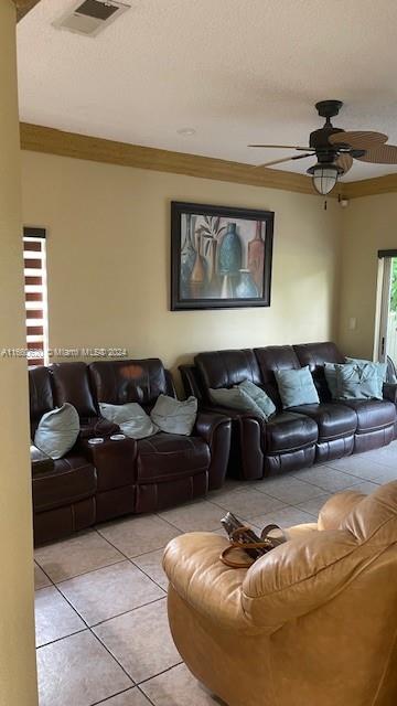
[[[194,394],[201,408],[232,418],[230,474],[259,479],[376,449],[395,438],[397,385],[384,385],[383,400],[334,402],[325,381],[325,362],[345,362],[332,342],[200,353],[194,365],[180,367],[186,394]],[[282,410],[275,371],[305,365],[320,404]],[[267,422],[212,403],[210,388],[232,387],[244,379],[260,386],[273,400],[277,413]]]

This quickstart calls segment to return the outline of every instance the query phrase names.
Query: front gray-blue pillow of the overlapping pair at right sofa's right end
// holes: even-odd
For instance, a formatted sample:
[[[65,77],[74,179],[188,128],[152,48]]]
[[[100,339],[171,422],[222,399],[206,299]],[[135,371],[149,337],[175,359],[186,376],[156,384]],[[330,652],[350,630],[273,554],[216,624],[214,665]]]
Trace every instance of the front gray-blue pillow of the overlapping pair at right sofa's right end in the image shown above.
[[[383,399],[376,363],[335,365],[339,399]]]

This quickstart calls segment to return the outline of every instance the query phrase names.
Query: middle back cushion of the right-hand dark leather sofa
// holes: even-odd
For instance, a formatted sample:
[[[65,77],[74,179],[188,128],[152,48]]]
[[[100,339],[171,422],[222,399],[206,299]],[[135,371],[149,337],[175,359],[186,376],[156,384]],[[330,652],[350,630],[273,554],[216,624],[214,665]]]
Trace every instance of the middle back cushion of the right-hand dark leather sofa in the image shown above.
[[[291,345],[268,345],[262,349],[255,349],[254,353],[258,361],[264,389],[276,406],[281,408],[275,372],[298,371],[301,367],[299,360]]]

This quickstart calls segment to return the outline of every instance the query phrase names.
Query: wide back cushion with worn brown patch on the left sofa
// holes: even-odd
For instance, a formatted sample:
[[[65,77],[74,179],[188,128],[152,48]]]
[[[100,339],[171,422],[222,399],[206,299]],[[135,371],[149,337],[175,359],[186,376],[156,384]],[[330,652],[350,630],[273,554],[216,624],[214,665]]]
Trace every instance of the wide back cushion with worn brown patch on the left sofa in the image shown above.
[[[159,359],[99,361],[89,365],[89,372],[99,403],[137,402],[150,409],[159,395],[174,397],[172,382]]]

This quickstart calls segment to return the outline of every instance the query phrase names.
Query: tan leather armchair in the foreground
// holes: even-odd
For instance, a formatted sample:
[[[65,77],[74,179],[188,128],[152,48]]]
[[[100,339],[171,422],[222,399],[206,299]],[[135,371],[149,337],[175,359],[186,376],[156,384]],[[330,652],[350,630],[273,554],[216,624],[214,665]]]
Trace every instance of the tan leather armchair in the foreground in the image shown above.
[[[187,667],[228,706],[396,706],[397,482],[334,495],[290,536],[249,569],[211,533],[168,545]]]

